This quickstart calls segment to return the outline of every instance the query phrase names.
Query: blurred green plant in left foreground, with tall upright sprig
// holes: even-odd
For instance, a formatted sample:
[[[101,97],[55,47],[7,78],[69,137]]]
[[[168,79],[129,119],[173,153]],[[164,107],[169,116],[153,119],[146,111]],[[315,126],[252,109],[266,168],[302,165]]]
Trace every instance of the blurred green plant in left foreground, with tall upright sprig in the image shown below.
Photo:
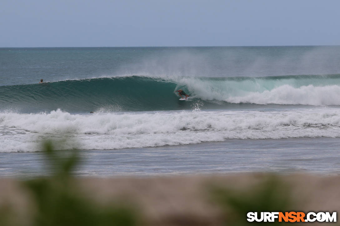
[[[2,226],[67,226],[67,225],[124,225],[137,224],[136,213],[122,205],[99,205],[79,192],[72,169],[79,163],[76,150],[54,151],[51,142],[44,143],[44,153],[52,175],[23,181],[23,188],[31,193],[32,219],[20,221],[10,206],[0,207]],[[31,221],[31,222],[30,222]]]

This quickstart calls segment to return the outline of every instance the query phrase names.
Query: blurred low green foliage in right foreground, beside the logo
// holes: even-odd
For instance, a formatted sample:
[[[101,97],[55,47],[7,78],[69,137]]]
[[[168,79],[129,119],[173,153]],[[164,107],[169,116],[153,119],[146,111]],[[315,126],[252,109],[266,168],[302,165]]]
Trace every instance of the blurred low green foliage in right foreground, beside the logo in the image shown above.
[[[246,190],[212,186],[209,189],[212,200],[217,203],[224,215],[225,225],[286,225],[285,222],[248,222],[248,212],[291,211],[293,200],[290,186],[274,174],[265,174],[261,183]],[[260,216],[258,216],[260,217]]]

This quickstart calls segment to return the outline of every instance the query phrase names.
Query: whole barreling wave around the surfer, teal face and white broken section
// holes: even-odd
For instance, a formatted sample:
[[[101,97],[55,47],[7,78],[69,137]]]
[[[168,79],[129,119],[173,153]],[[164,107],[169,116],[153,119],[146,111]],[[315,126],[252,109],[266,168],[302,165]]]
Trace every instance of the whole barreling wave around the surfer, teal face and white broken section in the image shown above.
[[[191,95],[179,101],[175,90]],[[340,74],[271,77],[125,76],[0,87],[0,110],[32,113],[229,108],[230,104],[340,105]]]

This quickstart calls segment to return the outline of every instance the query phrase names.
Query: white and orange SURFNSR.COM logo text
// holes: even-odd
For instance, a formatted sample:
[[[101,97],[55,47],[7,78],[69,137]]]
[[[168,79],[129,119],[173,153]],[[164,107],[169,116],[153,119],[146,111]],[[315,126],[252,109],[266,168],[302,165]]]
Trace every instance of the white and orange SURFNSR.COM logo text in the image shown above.
[[[337,212],[248,212],[247,221],[253,222],[337,222]]]

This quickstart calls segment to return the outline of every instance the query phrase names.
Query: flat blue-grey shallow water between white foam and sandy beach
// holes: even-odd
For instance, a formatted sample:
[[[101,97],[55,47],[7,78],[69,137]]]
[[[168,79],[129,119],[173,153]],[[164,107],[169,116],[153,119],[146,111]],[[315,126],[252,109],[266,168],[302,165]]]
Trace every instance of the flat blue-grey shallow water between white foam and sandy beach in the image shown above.
[[[79,150],[77,176],[154,176],[240,172],[339,175],[339,138],[230,139],[115,150]],[[0,176],[49,173],[42,152],[1,153]]]

